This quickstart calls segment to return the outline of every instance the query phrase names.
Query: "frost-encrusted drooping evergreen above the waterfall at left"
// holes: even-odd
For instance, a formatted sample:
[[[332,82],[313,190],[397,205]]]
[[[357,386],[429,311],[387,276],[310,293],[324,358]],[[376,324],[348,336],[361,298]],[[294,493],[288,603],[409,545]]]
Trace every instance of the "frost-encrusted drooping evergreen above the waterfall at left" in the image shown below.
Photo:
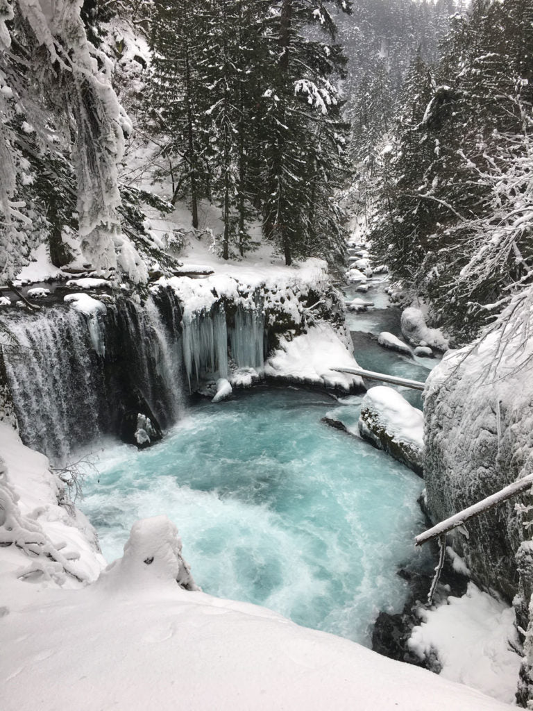
[[[93,268],[118,266],[134,281],[146,277],[139,255],[122,235],[117,215],[117,162],[129,121],[112,89],[112,64],[88,41],[81,10],[80,0],[54,4],[18,0],[4,2],[0,11],[0,150],[9,166],[1,184],[6,225],[1,262],[8,279],[47,231],[57,260],[67,258],[60,253],[62,219],[68,228],[77,228],[85,260]],[[69,161],[70,151],[74,186],[70,166],[62,157]],[[41,181],[32,178],[28,173],[32,161],[25,154],[33,158],[37,173],[44,169],[54,182],[58,180],[57,189],[46,191]],[[32,181],[36,191],[29,188]]]

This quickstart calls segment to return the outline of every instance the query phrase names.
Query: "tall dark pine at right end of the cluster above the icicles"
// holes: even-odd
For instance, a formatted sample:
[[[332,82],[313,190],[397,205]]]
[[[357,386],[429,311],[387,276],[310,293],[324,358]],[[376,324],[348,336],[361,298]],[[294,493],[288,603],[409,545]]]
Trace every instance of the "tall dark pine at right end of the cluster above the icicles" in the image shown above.
[[[337,5],[350,11],[348,3]],[[338,90],[331,80],[343,75],[346,60],[338,45],[304,34],[308,25],[318,21],[334,38],[335,24],[325,5],[317,8],[304,0],[282,0],[274,10],[266,20],[270,53],[276,62],[266,77],[262,97],[261,197],[264,234],[282,252],[286,264],[291,264],[294,257],[311,253],[317,210],[333,220],[325,180],[330,176],[335,184],[338,153],[333,154],[332,147],[338,145],[338,139],[344,140],[347,132],[340,122]],[[317,138],[324,150],[321,170],[311,168],[311,178]],[[318,205],[311,204],[313,195]]]

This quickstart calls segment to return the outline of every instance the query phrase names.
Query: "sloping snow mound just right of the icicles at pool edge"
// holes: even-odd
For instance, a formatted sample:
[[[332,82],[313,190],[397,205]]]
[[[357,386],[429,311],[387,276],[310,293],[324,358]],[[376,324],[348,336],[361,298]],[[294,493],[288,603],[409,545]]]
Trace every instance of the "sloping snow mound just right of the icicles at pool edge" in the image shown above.
[[[312,326],[308,333],[291,341],[281,338],[279,349],[266,360],[264,374],[269,378],[334,387],[345,392],[364,390],[359,375],[330,370],[344,367],[358,366],[338,333],[330,324],[323,323]]]

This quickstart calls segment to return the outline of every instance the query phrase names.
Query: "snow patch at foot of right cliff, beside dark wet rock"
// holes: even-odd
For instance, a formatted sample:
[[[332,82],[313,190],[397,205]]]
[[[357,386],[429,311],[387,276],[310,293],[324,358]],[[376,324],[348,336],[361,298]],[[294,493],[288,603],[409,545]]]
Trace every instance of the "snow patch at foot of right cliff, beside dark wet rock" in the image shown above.
[[[420,609],[409,648],[421,659],[436,653],[441,676],[512,703],[521,657],[512,607],[481,592],[472,582],[463,597]],[[513,648],[512,648],[513,647]]]

